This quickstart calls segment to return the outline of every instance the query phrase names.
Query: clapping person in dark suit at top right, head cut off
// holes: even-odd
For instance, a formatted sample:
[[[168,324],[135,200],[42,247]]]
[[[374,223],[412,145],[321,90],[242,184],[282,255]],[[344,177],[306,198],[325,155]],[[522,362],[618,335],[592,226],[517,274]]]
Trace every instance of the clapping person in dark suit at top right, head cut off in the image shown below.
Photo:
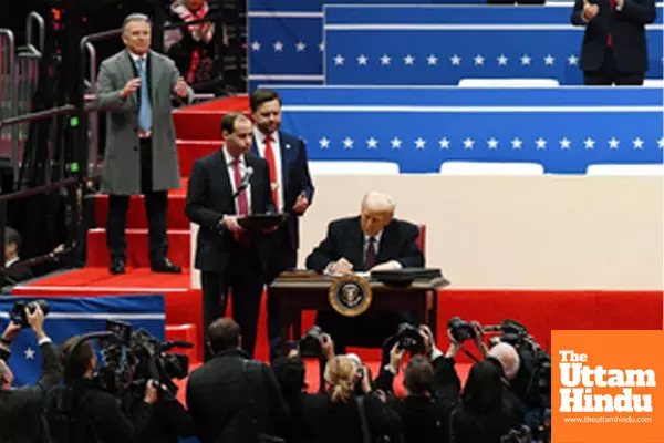
[[[655,0],[575,0],[571,22],[585,27],[583,83],[642,85],[649,68],[645,25],[656,17]]]

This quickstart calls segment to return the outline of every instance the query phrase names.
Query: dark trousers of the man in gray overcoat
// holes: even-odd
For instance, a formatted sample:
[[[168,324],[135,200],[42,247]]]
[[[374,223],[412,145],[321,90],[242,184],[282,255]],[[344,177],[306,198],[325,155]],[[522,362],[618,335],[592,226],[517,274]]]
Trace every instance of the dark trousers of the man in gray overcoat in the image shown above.
[[[168,192],[152,190],[152,141],[141,141],[141,190],[144,195],[145,214],[147,216],[149,260],[157,265],[166,258],[168,236],[166,223],[168,214]],[[106,244],[112,259],[126,260],[127,239],[125,224],[128,195],[108,196],[108,220],[106,222]]]

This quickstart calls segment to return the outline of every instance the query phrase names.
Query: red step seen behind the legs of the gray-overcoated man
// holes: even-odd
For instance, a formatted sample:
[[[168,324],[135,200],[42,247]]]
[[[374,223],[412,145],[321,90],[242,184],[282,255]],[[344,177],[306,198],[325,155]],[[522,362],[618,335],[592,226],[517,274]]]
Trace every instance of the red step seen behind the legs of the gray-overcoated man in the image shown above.
[[[173,229],[189,229],[189,220],[185,215],[186,189],[168,193],[168,227]],[[129,229],[147,229],[147,217],[142,195],[129,198],[127,224]],[[108,196],[98,194],[94,199],[94,222],[96,227],[105,227],[108,218]]]

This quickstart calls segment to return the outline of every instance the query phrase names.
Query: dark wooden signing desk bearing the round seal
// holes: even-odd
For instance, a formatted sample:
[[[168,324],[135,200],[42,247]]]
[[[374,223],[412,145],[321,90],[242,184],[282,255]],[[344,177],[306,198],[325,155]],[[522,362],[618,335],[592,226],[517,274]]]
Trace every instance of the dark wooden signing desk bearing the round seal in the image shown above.
[[[292,324],[293,339],[299,340],[301,331],[301,312],[303,310],[332,311],[328,300],[328,291],[334,278],[318,274],[283,274],[270,286],[270,295],[280,299],[283,324],[281,346],[284,354]],[[386,286],[376,280],[370,280],[373,300],[370,310],[381,311],[413,311],[417,321],[426,323],[434,337],[437,331],[438,298],[436,289],[449,285],[445,278],[432,280],[415,280],[409,286]]]

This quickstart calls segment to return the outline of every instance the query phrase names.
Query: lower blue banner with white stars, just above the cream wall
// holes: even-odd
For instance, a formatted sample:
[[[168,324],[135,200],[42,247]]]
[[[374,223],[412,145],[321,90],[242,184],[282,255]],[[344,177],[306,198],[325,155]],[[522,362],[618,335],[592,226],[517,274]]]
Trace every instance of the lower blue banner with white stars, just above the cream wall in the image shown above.
[[[286,132],[312,161],[394,162],[437,173],[447,161],[530,162],[547,173],[662,164],[661,89],[274,87]]]

